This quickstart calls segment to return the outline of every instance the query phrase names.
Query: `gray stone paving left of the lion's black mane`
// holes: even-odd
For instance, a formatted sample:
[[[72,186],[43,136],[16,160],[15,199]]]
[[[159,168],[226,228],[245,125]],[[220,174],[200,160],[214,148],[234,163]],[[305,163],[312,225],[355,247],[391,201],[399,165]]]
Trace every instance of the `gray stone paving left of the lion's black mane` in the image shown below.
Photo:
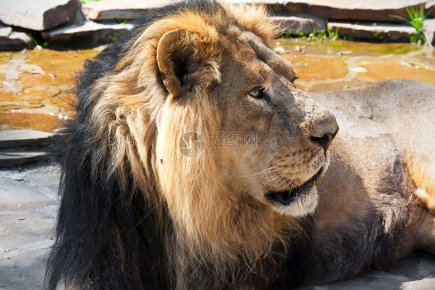
[[[0,170],[0,289],[42,288],[57,187],[50,166]]]

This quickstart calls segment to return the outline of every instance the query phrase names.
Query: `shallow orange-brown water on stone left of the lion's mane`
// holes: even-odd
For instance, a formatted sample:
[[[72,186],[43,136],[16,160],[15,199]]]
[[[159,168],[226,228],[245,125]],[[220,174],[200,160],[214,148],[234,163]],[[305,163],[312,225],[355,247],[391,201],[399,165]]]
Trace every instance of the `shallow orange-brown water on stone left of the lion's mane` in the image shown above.
[[[96,49],[1,52],[0,130],[51,131],[67,115],[72,76],[97,53]]]

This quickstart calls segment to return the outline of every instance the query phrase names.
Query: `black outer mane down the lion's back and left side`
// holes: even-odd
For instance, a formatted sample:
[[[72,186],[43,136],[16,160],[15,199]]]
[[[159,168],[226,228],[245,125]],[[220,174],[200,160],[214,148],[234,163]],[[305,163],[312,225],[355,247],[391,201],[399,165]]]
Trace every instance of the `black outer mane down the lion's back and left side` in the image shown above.
[[[120,176],[113,168],[110,140],[101,140],[90,123],[97,101],[90,96],[95,82],[110,74],[128,51],[128,40],[150,23],[181,9],[211,11],[216,7],[214,1],[187,1],[145,13],[131,31],[124,31],[77,73],[76,115],[58,129],[49,148],[60,167],[61,201],[57,238],[47,263],[48,289],[56,289],[59,282],[83,289],[90,281],[99,289],[162,289],[171,284],[161,275],[170,268],[162,259],[164,233],[157,226],[169,222],[157,221],[155,209],[133,178]],[[123,171],[131,171],[129,166],[126,160]],[[169,229],[169,224],[165,228]]]

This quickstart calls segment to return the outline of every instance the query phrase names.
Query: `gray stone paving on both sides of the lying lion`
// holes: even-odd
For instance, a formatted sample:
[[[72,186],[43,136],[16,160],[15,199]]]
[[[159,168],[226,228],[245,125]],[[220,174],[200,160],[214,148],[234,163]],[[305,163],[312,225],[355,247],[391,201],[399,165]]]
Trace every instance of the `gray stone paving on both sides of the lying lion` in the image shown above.
[[[0,290],[41,289],[53,243],[58,176],[49,165],[0,170]],[[24,220],[19,220],[24,218]],[[435,256],[415,252],[388,272],[303,290],[432,290]]]

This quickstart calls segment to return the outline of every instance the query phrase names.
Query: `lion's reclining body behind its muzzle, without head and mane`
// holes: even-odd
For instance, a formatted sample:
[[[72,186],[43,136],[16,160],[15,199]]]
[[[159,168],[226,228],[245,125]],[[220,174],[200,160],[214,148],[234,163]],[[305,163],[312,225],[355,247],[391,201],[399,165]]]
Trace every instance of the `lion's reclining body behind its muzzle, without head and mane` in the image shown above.
[[[383,268],[415,247],[434,253],[433,215],[423,210],[415,198],[420,197],[419,189],[429,192],[431,200],[435,193],[430,187],[435,180],[433,169],[425,170],[424,182],[415,174],[427,164],[432,168],[435,164],[433,89],[422,82],[396,79],[311,94],[334,113],[340,124],[331,148],[331,163],[322,179],[315,218],[314,231],[322,247],[326,240],[336,243],[343,232],[360,227],[375,232],[362,231],[361,238],[356,235],[343,245],[349,242],[347,246],[354,253],[364,249],[359,257],[354,256],[360,261],[370,260],[378,252],[382,258],[372,267]],[[417,233],[425,217],[425,232]],[[386,236],[370,238],[378,235],[378,230]],[[415,239],[416,234],[423,235],[427,242]],[[391,251],[393,248],[397,251]],[[349,255],[336,250],[339,252],[327,251],[325,260],[334,257],[334,261],[340,261]],[[334,270],[335,275],[343,271]],[[334,273],[329,274],[331,280],[336,279]]]

